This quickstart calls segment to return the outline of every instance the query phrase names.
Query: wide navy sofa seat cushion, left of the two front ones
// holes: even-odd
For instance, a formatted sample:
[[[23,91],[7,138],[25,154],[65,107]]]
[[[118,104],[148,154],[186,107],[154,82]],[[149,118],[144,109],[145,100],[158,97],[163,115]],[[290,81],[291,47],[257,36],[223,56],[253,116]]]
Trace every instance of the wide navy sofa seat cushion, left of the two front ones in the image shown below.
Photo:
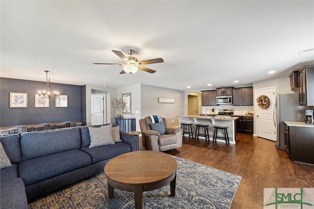
[[[91,163],[92,159],[87,153],[73,149],[22,161],[19,163],[19,174],[28,186]]]

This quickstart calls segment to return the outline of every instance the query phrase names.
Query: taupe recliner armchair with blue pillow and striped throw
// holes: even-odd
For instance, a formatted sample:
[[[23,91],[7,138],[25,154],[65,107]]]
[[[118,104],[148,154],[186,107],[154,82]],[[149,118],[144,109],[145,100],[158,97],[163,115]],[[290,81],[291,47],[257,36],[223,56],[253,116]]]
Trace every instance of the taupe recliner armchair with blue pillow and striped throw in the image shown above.
[[[160,122],[159,124],[152,123],[152,119],[149,116],[139,120],[142,144],[145,149],[166,151],[182,147],[182,129],[168,127],[166,118],[162,117],[162,120],[163,123]]]

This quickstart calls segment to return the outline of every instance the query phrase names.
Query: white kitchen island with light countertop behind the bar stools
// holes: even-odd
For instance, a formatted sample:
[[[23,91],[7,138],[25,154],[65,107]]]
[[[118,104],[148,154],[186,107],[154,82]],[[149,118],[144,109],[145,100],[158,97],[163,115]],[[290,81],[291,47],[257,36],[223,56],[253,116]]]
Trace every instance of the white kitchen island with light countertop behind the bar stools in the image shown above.
[[[177,116],[180,118],[180,123],[192,123],[192,131],[195,136],[196,124],[209,125],[209,139],[212,140],[214,134],[213,126],[226,126],[228,127],[227,132],[229,136],[229,142],[235,144],[235,120],[238,117],[232,116]],[[200,134],[204,134],[204,129],[200,129]],[[223,132],[218,130],[218,137],[223,137]],[[205,139],[200,137],[200,139]],[[225,142],[222,139],[217,139],[217,141]]]

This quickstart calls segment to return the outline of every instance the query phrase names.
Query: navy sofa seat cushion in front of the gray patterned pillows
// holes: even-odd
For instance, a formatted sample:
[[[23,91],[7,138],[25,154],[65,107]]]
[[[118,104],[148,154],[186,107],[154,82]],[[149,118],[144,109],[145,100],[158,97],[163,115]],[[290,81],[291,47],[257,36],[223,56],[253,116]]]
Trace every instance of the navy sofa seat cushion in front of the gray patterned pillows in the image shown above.
[[[97,163],[126,152],[131,152],[131,146],[130,144],[124,142],[117,142],[114,145],[98,146],[93,148],[82,147],[81,150],[88,153],[92,157],[92,163]]]

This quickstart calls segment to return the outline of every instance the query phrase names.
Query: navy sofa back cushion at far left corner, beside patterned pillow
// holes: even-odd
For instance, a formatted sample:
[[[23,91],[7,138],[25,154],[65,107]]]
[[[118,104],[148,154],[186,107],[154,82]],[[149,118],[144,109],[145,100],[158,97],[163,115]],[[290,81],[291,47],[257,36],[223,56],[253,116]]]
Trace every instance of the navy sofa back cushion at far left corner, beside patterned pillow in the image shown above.
[[[2,136],[0,141],[10,162],[20,163],[22,161],[20,136],[18,134]]]

